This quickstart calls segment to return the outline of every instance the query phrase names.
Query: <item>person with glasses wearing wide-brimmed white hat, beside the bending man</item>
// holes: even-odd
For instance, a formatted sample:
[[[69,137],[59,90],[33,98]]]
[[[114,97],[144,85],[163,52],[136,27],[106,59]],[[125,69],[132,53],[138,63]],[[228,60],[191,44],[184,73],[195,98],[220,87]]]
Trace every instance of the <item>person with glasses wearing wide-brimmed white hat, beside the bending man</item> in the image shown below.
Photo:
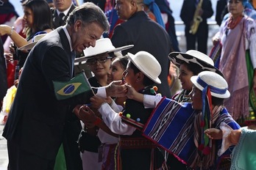
[[[107,75],[110,73],[110,64],[112,59],[120,55],[119,51],[127,48],[132,48],[133,45],[126,45],[120,48],[115,48],[109,38],[102,38],[96,40],[94,47],[89,47],[84,50],[84,57],[75,59],[75,62],[86,62],[90,71],[93,72],[93,77],[88,81],[90,86],[99,87],[107,86]],[[108,103],[112,100],[109,98]],[[95,111],[97,113],[97,111]],[[98,114],[98,116],[100,116]],[[105,128],[105,127],[102,127]],[[99,132],[99,133],[98,133]],[[103,130],[99,130],[99,127],[87,127],[85,125],[84,132],[81,133],[79,138],[79,148],[82,152],[82,164],[87,170],[95,170],[102,168],[102,161],[99,161],[99,157],[107,160],[107,156],[102,152],[98,152],[98,148],[101,144],[117,144],[118,138],[105,133]],[[107,145],[105,146],[107,147]],[[107,150],[112,152],[112,148],[108,147]],[[113,148],[115,150],[115,147]],[[108,153],[106,153],[108,154]],[[114,157],[114,155],[113,155]],[[103,162],[104,163],[104,162]]]

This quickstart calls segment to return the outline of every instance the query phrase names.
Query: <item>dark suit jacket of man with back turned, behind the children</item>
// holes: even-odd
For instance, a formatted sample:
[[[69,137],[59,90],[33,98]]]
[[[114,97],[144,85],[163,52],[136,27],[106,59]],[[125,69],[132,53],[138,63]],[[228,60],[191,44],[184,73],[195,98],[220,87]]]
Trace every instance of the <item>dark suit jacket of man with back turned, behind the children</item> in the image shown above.
[[[171,40],[162,26],[152,21],[145,12],[136,12],[128,21],[115,27],[111,41],[116,48],[122,45],[134,45],[133,48],[122,51],[123,55],[126,55],[127,52],[135,54],[138,51],[151,53],[162,67],[159,76],[162,84],[156,84],[158,92],[166,97],[171,97],[167,82],[170,66],[168,53],[171,52]],[[154,65],[150,67],[154,67]]]

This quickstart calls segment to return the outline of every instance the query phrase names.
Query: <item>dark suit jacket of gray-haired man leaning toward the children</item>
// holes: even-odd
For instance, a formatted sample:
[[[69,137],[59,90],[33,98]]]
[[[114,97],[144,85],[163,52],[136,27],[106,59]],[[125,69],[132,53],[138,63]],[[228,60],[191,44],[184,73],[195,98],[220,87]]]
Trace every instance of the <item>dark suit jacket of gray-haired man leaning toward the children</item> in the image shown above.
[[[91,94],[57,100],[52,81],[72,78],[71,49],[62,27],[32,48],[24,64],[3,136],[26,152],[54,159],[63,141],[70,105],[84,103]]]

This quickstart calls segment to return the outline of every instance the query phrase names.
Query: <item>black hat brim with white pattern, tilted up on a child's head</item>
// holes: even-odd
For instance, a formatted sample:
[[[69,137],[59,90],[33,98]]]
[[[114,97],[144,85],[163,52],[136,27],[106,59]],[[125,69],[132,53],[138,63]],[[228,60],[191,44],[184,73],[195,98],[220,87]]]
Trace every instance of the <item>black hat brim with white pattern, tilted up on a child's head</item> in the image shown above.
[[[211,65],[205,61],[202,61],[201,59],[197,59],[196,57],[191,56],[188,53],[172,52],[172,53],[169,53],[168,58],[177,67],[179,67],[182,62],[186,62],[188,64],[193,62],[195,64],[198,64],[205,71],[212,71],[212,72],[218,73],[218,75],[221,75],[222,77],[224,77],[224,75],[221,73],[220,70],[218,70],[218,68],[214,67],[213,65]]]

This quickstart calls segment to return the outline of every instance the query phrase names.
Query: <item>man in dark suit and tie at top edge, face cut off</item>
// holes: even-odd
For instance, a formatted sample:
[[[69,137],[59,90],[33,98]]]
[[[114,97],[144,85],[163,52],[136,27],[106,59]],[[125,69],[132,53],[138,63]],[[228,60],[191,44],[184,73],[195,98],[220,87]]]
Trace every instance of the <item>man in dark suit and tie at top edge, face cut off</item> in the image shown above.
[[[68,15],[75,9],[72,0],[53,0],[54,7],[51,8],[52,24],[54,29],[64,26]]]

